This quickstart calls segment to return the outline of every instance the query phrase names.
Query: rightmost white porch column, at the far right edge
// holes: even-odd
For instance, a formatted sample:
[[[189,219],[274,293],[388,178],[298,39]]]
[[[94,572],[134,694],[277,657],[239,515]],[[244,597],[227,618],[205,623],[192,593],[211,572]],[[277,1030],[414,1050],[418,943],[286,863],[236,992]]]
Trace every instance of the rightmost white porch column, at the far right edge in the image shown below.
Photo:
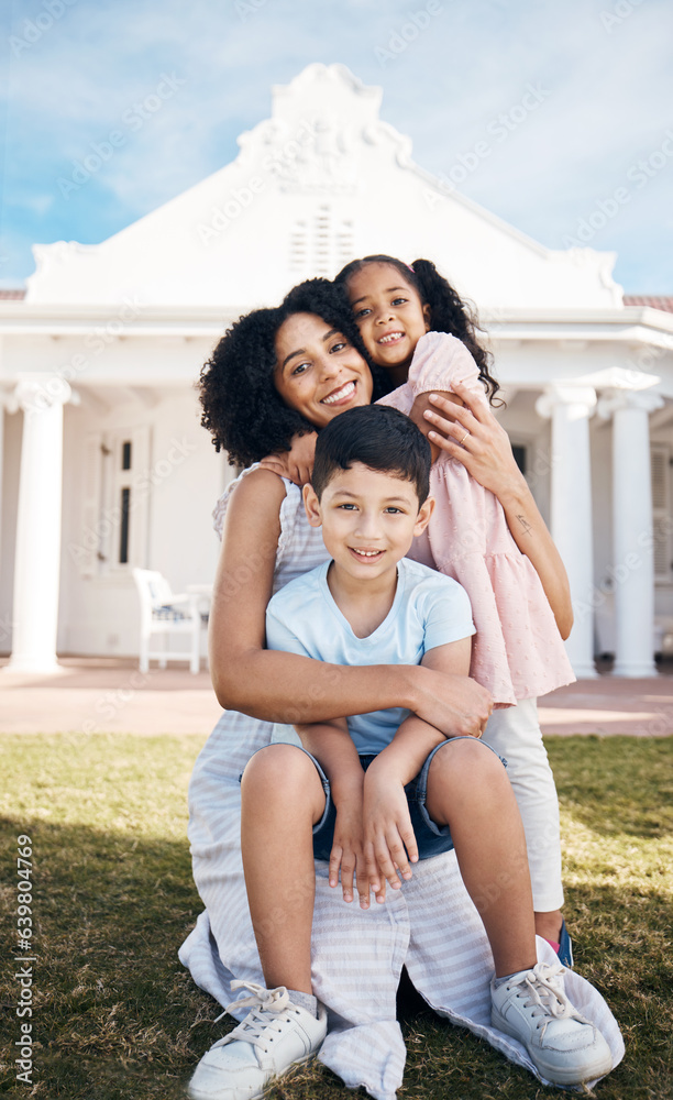
[[[598,414],[613,416],[613,566],[616,676],[654,676],[654,554],[649,414],[657,394],[606,391]]]

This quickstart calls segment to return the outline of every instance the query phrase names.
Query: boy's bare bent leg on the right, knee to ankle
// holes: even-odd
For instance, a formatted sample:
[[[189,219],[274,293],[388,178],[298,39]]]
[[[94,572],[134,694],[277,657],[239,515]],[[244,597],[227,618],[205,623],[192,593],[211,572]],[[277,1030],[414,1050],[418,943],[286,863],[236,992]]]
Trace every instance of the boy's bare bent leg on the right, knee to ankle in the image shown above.
[[[449,825],[459,866],[488,936],[496,977],[537,963],[526,837],[507,771],[477,740],[446,741],[428,774],[426,806]]]

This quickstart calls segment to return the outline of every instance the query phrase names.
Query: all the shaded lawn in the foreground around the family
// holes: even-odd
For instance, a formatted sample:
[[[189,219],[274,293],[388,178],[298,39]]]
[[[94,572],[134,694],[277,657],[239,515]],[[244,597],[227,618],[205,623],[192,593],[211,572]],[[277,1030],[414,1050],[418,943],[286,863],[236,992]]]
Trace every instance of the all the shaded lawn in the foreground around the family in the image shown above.
[[[7,820],[3,836],[32,829],[35,851],[34,1088],[24,1100],[173,1100],[223,1032],[218,1009],[196,989],[177,948],[200,911],[185,843],[133,839],[85,826]],[[8,855],[9,861],[9,855]],[[7,866],[7,864],[4,864]],[[4,892],[12,921],[14,897]],[[576,888],[569,915],[581,971],[606,994],[627,1040],[627,1060],[600,1086],[602,1100],[670,1097],[670,899],[618,887]],[[7,1047],[18,1034],[15,983],[3,975]],[[485,1043],[410,1005],[405,1100],[532,1100],[559,1094],[510,1066]],[[347,1096],[320,1066],[300,1069],[269,1100]]]

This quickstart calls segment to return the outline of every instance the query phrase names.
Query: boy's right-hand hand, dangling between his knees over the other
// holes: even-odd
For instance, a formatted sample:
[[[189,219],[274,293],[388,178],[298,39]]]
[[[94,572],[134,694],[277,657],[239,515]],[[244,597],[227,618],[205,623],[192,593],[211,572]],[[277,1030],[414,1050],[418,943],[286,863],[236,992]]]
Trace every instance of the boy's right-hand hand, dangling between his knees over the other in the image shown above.
[[[411,826],[405,785],[394,769],[378,757],[368,768],[364,782],[364,850],[369,884],[376,901],[386,900],[386,880],[399,890],[402,879],[411,878],[409,864],[418,860],[418,845]]]

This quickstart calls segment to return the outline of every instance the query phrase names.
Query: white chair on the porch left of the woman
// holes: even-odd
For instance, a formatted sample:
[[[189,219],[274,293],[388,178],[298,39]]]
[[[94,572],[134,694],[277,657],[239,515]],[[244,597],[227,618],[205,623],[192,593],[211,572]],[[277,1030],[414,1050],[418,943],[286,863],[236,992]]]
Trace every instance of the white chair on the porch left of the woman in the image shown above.
[[[140,670],[146,672],[150,661],[165,669],[167,661],[189,661],[189,671],[200,668],[201,614],[199,596],[183,593],[175,596],[162,573],[151,569],[134,569],[133,580],[141,605]],[[163,649],[151,649],[153,635],[163,637]],[[189,649],[169,649],[175,635],[189,639]]]

